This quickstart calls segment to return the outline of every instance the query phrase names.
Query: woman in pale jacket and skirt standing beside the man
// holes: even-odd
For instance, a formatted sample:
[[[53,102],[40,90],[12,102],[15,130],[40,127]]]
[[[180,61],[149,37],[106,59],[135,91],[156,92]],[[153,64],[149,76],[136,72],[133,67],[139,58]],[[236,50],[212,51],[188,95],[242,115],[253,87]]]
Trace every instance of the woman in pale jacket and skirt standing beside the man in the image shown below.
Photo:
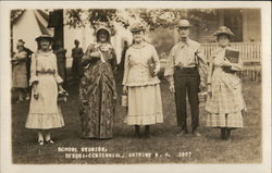
[[[145,126],[145,136],[150,135],[150,125],[163,122],[160,81],[160,61],[154,47],[145,41],[145,27],[135,23],[131,32],[134,44],[125,55],[123,92],[128,96],[128,112],[125,122],[135,125],[135,135],[139,136],[139,126]]]

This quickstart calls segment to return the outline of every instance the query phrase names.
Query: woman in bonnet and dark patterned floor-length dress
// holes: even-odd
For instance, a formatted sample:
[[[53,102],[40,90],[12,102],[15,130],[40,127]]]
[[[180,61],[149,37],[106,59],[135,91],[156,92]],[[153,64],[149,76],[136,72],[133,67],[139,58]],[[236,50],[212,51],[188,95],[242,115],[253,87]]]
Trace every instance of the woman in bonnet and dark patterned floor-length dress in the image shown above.
[[[110,44],[110,30],[101,25],[82,60],[84,70],[79,83],[79,115],[83,138],[112,138],[116,88],[113,70],[115,51]]]

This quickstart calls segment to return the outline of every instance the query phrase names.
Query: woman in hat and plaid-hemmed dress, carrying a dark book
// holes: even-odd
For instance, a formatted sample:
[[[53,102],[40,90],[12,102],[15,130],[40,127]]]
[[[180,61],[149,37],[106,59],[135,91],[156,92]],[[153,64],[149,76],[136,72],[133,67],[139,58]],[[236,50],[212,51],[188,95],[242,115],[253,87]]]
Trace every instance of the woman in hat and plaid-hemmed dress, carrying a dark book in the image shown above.
[[[222,139],[231,139],[231,131],[243,127],[243,111],[246,106],[242,95],[242,82],[235,72],[242,71],[243,62],[231,62],[226,50],[234,36],[230,28],[222,26],[214,34],[219,48],[214,51],[208,71],[208,92],[206,104],[207,126],[219,127]]]

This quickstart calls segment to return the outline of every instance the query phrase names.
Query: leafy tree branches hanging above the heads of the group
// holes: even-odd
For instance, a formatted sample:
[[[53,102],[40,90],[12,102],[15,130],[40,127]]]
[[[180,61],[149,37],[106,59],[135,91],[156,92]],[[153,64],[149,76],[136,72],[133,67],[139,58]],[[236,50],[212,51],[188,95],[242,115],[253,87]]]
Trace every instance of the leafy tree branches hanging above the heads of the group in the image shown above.
[[[82,27],[97,22],[107,22],[112,26],[114,22],[125,28],[134,21],[143,21],[151,28],[174,27],[181,18],[188,18],[199,26],[206,27],[206,18],[215,14],[210,9],[70,9],[65,11],[65,24]]]

